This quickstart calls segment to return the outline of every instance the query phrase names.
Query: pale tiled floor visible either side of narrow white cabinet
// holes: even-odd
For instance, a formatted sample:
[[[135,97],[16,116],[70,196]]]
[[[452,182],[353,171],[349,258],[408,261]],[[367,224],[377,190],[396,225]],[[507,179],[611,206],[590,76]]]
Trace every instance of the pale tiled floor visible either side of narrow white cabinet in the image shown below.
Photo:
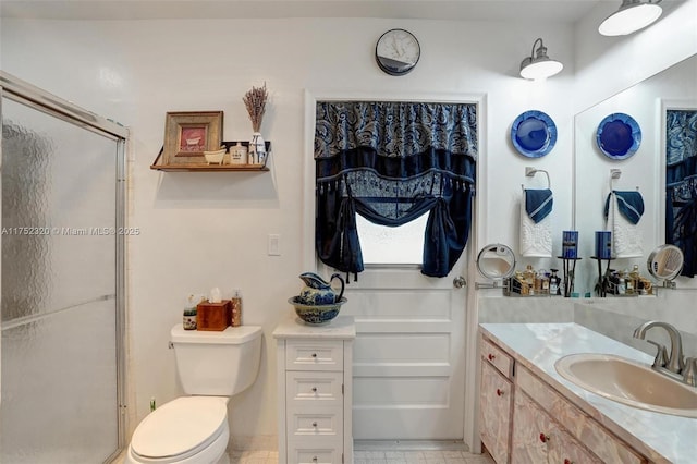
[[[231,464],[278,464],[276,451],[233,451]],[[399,450],[399,451],[354,451],[354,464],[493,464],[482,454],[467,451]]]

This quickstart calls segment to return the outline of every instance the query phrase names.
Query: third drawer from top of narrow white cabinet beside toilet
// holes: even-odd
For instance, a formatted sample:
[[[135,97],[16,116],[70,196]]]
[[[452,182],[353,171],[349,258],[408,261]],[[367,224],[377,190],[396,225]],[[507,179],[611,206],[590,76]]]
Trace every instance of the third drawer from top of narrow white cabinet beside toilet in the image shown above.
[[[343,415],[341,412],[341,407],[289,410],[289,439],[311,438],[313,440],[338,439],[341,441],[343,434]]]

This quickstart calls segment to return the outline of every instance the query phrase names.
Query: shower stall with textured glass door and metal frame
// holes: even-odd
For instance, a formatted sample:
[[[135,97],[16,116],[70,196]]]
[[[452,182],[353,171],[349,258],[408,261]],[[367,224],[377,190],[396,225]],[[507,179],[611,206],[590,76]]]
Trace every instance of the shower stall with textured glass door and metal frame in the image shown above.
[[[0,71],[0,462],[123,448],[125,127]]]

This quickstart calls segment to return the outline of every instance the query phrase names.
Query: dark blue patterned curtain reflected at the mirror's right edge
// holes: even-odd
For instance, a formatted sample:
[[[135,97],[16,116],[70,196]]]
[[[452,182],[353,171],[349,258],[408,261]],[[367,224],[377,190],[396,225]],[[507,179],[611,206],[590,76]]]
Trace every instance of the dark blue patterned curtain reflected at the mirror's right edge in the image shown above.
[[[665,115],[665,242],[683,251],[682,276],[697,272],[697,111]]]

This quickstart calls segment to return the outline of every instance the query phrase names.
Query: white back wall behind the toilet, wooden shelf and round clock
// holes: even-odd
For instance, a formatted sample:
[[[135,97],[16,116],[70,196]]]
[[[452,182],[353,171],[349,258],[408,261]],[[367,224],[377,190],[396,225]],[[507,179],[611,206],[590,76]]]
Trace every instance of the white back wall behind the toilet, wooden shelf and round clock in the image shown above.
[[[695,0],[689,0],[694,3]],[[421,60],[391,77],[372,58],[391,27],[412,30]],[[176,394],[169,329],[181,321],[187,292],[242,289],[244,322],[261,325],[266,344],[257,382],[232,402],[234,436],[274,435],[276,359],[270,332],[291,307],[303,269],[304,89],[384,91],[390,96],[486,94],[475,249],[502,242],[517,249],[521,184],[526,166],[548,170],[555,230],[572,221],[574,27],[568,24],[390,20],[30,21],[3,19],[2,69],[132,130],[129,221],[143,231],[129,246],[131,411],[134,427],[151,396]],[[533,41],[565,63],[546,83],[517,77]],[[272,142],[271,172],[160,173],[149,164],[162,145],[164,113],[225,111],[224,138],[247,138],[241,101],[253,85],[271,93],[262,133]],[[585,86],[589,81],[584,81]],[[598,85],[602,95],[604,85]],[[609,94],[611,90],[608,90]],[[547,112],[557,147],[543,158],[517,155],[512,121]],[[281,256],[267,256],[267,234]],[[561,232],[560,232],[561,233]],[[557,249],[555,249],[557,252]],[[549,267],[548,264],[541,264]],[[536,262],[537,266],[537,262]],[[474,281],[477,277],[470,277]]]

